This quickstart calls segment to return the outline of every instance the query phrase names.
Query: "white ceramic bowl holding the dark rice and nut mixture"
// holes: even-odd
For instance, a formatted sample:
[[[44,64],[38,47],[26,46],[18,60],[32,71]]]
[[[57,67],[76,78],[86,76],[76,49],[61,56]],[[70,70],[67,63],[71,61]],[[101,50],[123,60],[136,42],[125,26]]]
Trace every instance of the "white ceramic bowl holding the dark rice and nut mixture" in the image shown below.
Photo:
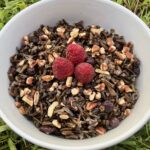
[[[54,25],[65,18],[69,22],[84,20],[85,24],[114,28],[127,41],[133,41],[135,53],[141,60],[138,80],[140,98],[119,127],[103,136],[86,140],[66,140],[46,135],[26,120],[16,109],[8,94],[7,70],[9,57],[15,53],[23,35],[41,24]],[[49,149],[94,150],[121,142],[139,130],[150,118],[150,30],[126,8],[106,0],[47,0],[38,2],[16,15],[0,33],[0,115],[20,136]]]

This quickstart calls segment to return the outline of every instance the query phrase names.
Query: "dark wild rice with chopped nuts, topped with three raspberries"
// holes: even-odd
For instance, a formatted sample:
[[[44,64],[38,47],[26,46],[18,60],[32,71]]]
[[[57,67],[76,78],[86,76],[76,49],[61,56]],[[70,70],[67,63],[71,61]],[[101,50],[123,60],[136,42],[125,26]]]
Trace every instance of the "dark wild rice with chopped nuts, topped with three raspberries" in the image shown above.
[[[49,135],[103,135],[130,115],[138,99],[140,61],[133,44],[113,29],[65,20],[42,25],[23,37],[10,62],[9,94],[19,112]]]

